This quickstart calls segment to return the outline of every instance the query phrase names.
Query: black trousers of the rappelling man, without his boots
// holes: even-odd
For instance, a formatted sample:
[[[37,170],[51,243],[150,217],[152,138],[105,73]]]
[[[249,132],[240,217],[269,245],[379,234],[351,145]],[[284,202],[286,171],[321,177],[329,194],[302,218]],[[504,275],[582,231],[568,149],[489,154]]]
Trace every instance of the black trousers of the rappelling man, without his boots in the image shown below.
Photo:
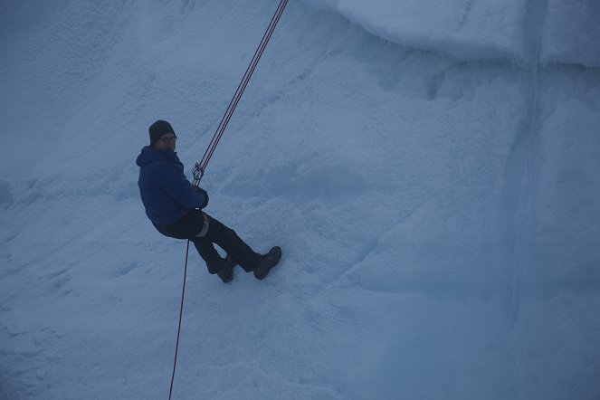
[[[210,215],[205,215],[208,217],[208,232],[203,237],[197,236],[202,232],[205,224],[203,212],[200,210],[189,210],[175,224],[164,226],[153,224],[157,231],[165,236],[192,241],[195,250],[205,260],[210,273],[218,273],[224,265],[224,259],[216,251],[214,244],[227,252],[244,271],[254,270],[261,261],[261,255],[244,243],[233,229],[221,224]]]

